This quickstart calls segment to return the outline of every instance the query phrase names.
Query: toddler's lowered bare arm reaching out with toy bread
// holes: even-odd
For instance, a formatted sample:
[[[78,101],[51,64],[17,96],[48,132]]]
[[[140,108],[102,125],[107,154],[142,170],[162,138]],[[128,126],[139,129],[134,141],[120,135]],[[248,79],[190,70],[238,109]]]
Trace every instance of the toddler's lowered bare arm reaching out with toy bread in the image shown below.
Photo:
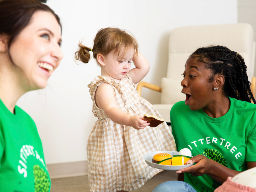
[[[149,125],[144,121],[142,115],[130,115],[117,108],[115,101],[114,89],[107,83],[102,83],[98,86],[95,93],[96,105],[103,109],[107,117],[115,123],[131,126],[135,129],[144,129]]]

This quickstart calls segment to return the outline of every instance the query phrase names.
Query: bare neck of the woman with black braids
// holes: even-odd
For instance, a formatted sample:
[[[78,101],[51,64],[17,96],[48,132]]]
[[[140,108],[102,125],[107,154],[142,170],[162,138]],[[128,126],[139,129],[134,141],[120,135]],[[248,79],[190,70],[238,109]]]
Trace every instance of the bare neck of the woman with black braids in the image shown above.
[[[212,118],[218,118],[225,115],[230,108],[230,100],[226,96],[220,96],[215,98],[206,107],[202,108],[208,116]]]

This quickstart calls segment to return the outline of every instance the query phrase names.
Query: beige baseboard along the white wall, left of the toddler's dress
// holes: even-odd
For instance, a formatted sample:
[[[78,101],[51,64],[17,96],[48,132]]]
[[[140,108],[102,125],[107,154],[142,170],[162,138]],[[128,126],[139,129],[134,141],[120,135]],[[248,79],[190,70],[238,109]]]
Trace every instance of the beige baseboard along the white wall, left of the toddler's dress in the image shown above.
[[[88,162],[76,161],[47,164],[50,178],[74,177],[88,174]]]

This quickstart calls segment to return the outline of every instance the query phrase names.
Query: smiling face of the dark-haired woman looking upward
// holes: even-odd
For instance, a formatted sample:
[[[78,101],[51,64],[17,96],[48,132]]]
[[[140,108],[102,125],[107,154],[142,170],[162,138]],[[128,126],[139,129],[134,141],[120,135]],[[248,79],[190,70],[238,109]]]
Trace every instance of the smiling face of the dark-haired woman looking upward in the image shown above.
[[[23,72],[17,76],[22,81],[26,80],[24,77],[27,78],[24,90],[35,90],[47,85],[48,78],[62,58],[60,43],[60,28],[53,14],[35,12],[30,24],[20,32],[9,49],[13,63]]]

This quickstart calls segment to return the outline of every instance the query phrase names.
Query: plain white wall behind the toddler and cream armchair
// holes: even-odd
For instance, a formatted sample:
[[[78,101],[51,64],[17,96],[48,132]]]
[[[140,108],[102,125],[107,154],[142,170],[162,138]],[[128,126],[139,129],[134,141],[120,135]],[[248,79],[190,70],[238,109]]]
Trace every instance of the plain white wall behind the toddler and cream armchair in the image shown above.
[[[74,63],[80,40],[86,38],[83,42],[92,46],[100,28],[129,30],[151,66],[144,81],[160,85],[166,75],[172,29],[237,23],[236,0],[48,0],[47,5],[61,18],[64,58],[47,88],[25,94],[18,105],[35,120],[48,164],[87,160],[86,142],[96,121],[87,85],[100,68],[94,60]],[[160,102],[160,93],[144,88],[142,92],[152,104]]]

